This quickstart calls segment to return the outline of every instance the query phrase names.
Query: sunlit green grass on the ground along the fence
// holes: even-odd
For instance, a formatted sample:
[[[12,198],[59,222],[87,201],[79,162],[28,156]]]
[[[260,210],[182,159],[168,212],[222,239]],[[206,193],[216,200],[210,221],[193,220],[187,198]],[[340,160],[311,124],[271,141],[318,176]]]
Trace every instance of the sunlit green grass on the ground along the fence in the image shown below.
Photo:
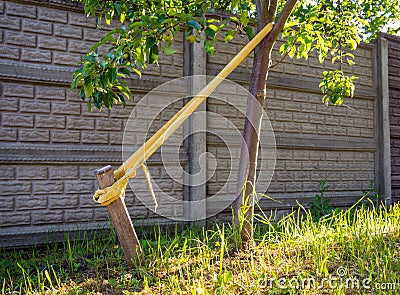
[[[3,294],[400,294],[400,205],[257,217],[238,251],[229,225],[163,232],[132,270],[115,232],[0,253]]]

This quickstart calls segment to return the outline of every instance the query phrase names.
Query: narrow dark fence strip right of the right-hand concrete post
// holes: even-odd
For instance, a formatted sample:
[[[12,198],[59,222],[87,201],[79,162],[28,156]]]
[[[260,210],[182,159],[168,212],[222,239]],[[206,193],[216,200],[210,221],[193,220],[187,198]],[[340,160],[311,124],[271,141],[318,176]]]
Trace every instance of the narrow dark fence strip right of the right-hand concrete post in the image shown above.
[[[393,201],[400,201],[400,37],[388,40],[390,154]]]

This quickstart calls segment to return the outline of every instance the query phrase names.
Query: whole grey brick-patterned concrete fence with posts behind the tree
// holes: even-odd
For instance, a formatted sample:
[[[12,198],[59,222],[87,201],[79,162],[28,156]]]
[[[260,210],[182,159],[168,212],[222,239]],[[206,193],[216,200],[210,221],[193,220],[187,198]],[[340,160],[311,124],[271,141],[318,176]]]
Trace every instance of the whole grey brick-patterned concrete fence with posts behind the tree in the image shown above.
[[[160,85],[184,76],[214,76],[246,43],[241,36],[229,44],[221,40],[216,54],[208,56],[179,34],[176,54],[160,56],[159,65],[146,69],[143,79],[130,81],[136,95],[125,110],[89,113],[68,86],[81,56],[104,34],[68,1],[0,1],[0,246],[109,226],[107,209],[91,199],[97,187],[92,170],[120,165],[206,80],[174,81],[180,99]],[[336,206],[353,204],[371,180],[388,201],[392,195],[399,199],[400,40],[382,35],[362,44],[355,56],[356,65],[345,68],[358,76],[355,98],[341,107],[321,102],[322,71],[336,67],[330,61],[286,59],[271,70],[265,109],[276,162],[274,173],[267,173],[272,178],[268,190],[260,192],[275,201],[262,199],[264,210],[306,205],[323,179]],[[279,59],[278,52],[273,59]],[[128,189],[126,194],[134,222],[230,218],[227,204],[236,189],[231,176],[237,173],[240,152],[232,126],[242,129],[239,109],[246,104],[251,67],[250,57],[148,161],[157,212],[138,171],[135,193]],[[148,95],[153,89],[159,91]],[[137,104],[140,111],[134,111]],[[193,132],[199,126],[201,132]],[[263,134],[261,141],[265,138],[268,142],[270,137]],[[128,147],[124,153],[122,146]],[[268,185],[263,177],[260,183]],[[197,178],[208,181],[196,184]]]

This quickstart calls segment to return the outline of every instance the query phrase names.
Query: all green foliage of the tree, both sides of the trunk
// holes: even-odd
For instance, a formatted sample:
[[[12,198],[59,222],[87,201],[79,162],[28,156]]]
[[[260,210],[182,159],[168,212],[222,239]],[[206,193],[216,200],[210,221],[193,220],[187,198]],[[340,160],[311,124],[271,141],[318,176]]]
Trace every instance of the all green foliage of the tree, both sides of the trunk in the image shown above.
[[[73,75],[71,88],[79,90],[82,99],[99,110],[115,104],[125,106],[133,95],[125,78],[156,64],[160,51],[175,53],[172,40],[185,31],[188,42],[202,42],[214,54],[217,35],[225,42],[238,33],[249,39],[257,25],[259,0],[81,0],[87,16],[96,23],[121,26],[107,33],[82,58],[82,67]],[[267,1],[265,1],[267,2]],[[278,2],[278,12],[286,1]],[[354,51],[361,40],[369,42],[379,31],[399,31],[400,0],[299,0],[282,30],[284,44],[280,53],[290,58],[308,58],[316,51],[322,63],[329,58],[338,63],[337,70],[323,73],[323,102],[340,105],[343,98],[354,93],[354,77],[346,77],[342,65],[354,64]],[[396,27],[397,26],[397,27]],[[203,34],[202,34],[203,33]],[[203,37],[205,36],[205,37]],[[108,46],[104,55],[97,49]]]

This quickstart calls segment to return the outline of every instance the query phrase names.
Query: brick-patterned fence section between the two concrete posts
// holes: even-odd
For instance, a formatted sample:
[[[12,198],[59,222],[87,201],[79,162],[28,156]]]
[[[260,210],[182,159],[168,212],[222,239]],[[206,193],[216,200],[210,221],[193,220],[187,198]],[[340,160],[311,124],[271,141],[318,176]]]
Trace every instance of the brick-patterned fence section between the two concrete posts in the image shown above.
[[[215,75],[244,44],[245,38],[237,38],[229,46],[220,42],[215,56],[208,56],[207,73]],[[280,59],[279,47],[279,44],[275,46],[273,64]],[[330,61],[320,64],[313,55],[308,61],[286,58],[270,71],[265,107],[275,133],[277,154],[275,173],[266,193],[279,202],[263,198],[263,209],[290,209],[297,202],[307,205],[319,190],[318,182],[324,179],[330,186],[326,196],[332,203],[350,205],[376,179],[374,45],[362,44],[355,56],[357,65],[344,67],[348,74],[358,77],[355,97],[347,99],[341,107],[326,107],[318,89],[322,72],[337,68],[336,64]],[[247,88],[251,68],[252,59],[248,58],[229,78]],[[238,93],[231,88],[230,95],[234,97]],[[236,107],[245,103],[246,95]],[[238,122],[237,126],[242,128],[243,116],[238,116],[232,106],[208,100],[207,108]],[[226,128],[210,120],[207,124],[209,132]],[[208,140],[207,144],[208,151],[218,161],[216,174],[208,183],[208,195],[212,196],[227,179],[228,150],[225,148],[223,152],[218,141]],[[237,164],[237,161],[233,163],[234,169]],[[215,210],[214,202],[209,201],[209,211]]]

